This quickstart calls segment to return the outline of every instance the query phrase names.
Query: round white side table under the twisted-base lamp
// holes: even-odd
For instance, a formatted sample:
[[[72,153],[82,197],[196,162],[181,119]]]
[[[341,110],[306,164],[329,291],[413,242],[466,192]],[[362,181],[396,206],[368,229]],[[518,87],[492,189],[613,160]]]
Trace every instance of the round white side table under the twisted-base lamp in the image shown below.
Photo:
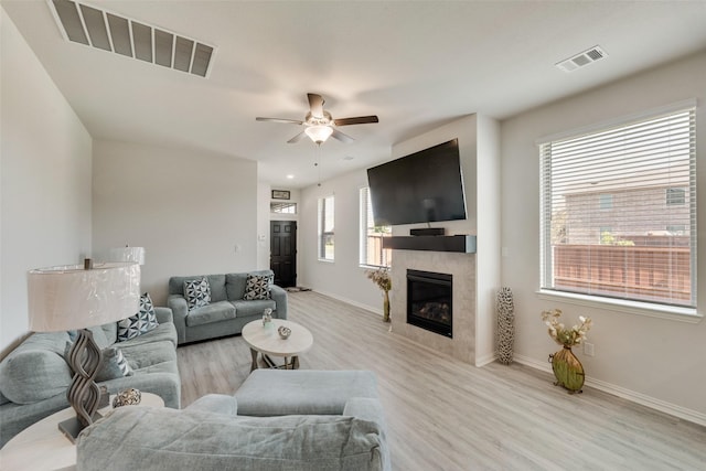
[[[110,396],[110,404],[113,398]],[[140,406],[164,407],[164,400],[156,394],[142,393]],[[124,406],[136,407],[136,406]],[[106,414],[113,406],[98,411]],[[76,465],[76,446],[58,429],[58,422],[74,417],[67,407],[44,417],[39,422],[15,435],[0,450],[0,469],[13,471],[73,470]]]

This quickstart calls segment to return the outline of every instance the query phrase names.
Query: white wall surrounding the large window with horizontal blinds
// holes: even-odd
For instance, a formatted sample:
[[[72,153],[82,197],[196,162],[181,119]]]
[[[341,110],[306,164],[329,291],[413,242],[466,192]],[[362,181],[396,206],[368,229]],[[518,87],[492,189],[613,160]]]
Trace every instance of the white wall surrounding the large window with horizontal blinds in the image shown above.
[[[580,73],[577,72],[577,73]],[[568,76],[567,76],[568,79]],[[706,313],[706,53],[554,103],[502,124],[502,281],[515,296],[515,357],[548,368],[557,350],[539,319],[560,308],[567,323],[593,319],[587,383],[706,424],[706,321],[698,324],[543,300],[539,288],[539,158],[535,140],[696,97],[698,303]]]

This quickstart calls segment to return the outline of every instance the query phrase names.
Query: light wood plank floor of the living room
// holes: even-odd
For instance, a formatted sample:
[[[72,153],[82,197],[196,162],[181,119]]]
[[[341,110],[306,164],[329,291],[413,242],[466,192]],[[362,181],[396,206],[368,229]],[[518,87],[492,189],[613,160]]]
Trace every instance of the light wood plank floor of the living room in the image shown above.
[[[314,338],[302,368],[376,373],[395,470],[706,470],[704,427],[588,387],[569,395],[526,366],[477,368],[312,291],[290,293],[289,312]],[[182,406],[249,373],[240,336],[178,354]]]

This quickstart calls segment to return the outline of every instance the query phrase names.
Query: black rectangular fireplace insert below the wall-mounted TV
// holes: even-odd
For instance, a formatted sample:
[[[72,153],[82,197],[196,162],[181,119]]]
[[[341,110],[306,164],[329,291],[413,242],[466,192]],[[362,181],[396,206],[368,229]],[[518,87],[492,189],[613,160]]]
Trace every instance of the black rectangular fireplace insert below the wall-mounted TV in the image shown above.
[[[453,338],[453,276],[407,270],[407,323]]]

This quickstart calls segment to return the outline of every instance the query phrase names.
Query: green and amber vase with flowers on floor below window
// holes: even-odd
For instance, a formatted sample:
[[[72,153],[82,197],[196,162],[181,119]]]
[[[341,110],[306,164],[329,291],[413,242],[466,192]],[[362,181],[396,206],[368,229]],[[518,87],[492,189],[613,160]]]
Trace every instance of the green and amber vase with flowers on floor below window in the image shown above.
[[[549,355],[549,363],[552,363],[552,370],[556,376],[554,384],[563,386],[571,394],[581,393],[586,375],[584,374],[584,365],[571,352],[571,346],[579,345],[586,340],[586,332],[591,328],[592,321],[590,318],[579,315],[578,319],[581,323],[567,329],[559,322],[560,317],[560,309],[542,312],[542,320],[549,328],[549,336],[564,346]]]

